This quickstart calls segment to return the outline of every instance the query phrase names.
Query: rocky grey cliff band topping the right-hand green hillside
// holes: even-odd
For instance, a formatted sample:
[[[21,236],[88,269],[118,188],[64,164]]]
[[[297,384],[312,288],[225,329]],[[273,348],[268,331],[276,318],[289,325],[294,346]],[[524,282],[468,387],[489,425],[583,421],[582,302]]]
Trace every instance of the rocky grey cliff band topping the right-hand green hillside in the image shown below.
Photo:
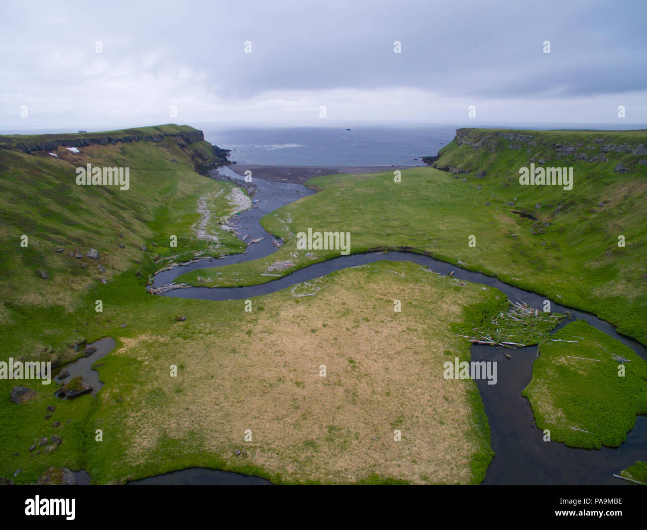
[[[647,131],[458,129],[432,165],[454,174],[469,173],[485,170],[476,166],[477,160],[483,163],[491,154],[515,151],[523,163],[606,163],[609,170],[626,173],[647,165]]]

